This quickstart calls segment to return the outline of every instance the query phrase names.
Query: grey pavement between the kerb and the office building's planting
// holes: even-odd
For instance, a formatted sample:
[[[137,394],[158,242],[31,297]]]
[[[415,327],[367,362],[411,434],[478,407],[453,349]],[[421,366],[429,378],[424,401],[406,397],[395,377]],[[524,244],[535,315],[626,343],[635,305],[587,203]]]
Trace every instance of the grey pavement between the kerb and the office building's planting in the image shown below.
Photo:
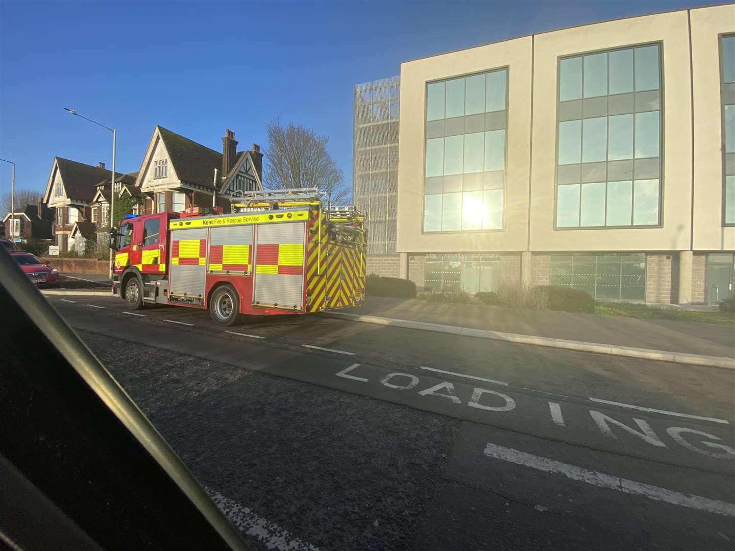
[[[365,306],[344,311],[350,314],[441,323],[551,339],[735,357],[733,325],[639,320],[632,317],[382,297],[368,297]]]

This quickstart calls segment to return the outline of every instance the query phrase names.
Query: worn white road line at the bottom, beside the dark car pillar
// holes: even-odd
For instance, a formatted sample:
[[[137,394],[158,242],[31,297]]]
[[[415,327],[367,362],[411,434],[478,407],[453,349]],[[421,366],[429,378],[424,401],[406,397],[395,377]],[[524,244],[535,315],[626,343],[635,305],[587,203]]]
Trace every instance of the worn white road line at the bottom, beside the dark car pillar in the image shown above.
[[[295,538],[292,533],[282,527],[273,524],[268,519],[254,513],[250,508],[243,507],[240,503],[224,497],[218,491],[207,489],[209,497],[218,506],[222,514],[227,517],[232,525],[247,534],[257,538],[268,549],[278,551],[319,551],[318,547],[306,541]]]

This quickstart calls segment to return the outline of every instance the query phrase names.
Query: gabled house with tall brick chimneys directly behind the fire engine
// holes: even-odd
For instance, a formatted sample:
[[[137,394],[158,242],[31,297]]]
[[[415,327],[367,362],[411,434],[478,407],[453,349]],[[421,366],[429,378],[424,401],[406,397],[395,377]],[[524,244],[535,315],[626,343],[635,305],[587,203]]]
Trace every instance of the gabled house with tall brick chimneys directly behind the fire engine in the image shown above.
[[[141,214],[181,212],[212,201],[227,212],[233,193],[263,189],[262,158],[257,144],[237,151],[229,129],[219,153],[157,125],[135,180],[144,198]]]

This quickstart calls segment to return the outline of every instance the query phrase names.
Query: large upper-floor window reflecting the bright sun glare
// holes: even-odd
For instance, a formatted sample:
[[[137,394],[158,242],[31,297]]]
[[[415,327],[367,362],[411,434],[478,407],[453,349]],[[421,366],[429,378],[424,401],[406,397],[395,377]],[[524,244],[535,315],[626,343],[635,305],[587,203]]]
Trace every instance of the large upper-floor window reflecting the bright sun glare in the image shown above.
[[[508,71],[426,86],[423,231],[503,228]]]

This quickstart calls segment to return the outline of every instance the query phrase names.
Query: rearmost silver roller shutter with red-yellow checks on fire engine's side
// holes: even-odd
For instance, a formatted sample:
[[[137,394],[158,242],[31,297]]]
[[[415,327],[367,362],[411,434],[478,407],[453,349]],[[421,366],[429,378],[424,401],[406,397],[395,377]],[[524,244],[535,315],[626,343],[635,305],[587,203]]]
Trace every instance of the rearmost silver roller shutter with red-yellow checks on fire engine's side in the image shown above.
[[[304,296],[304,222],[259,224],[254,306],[301,310]]]

